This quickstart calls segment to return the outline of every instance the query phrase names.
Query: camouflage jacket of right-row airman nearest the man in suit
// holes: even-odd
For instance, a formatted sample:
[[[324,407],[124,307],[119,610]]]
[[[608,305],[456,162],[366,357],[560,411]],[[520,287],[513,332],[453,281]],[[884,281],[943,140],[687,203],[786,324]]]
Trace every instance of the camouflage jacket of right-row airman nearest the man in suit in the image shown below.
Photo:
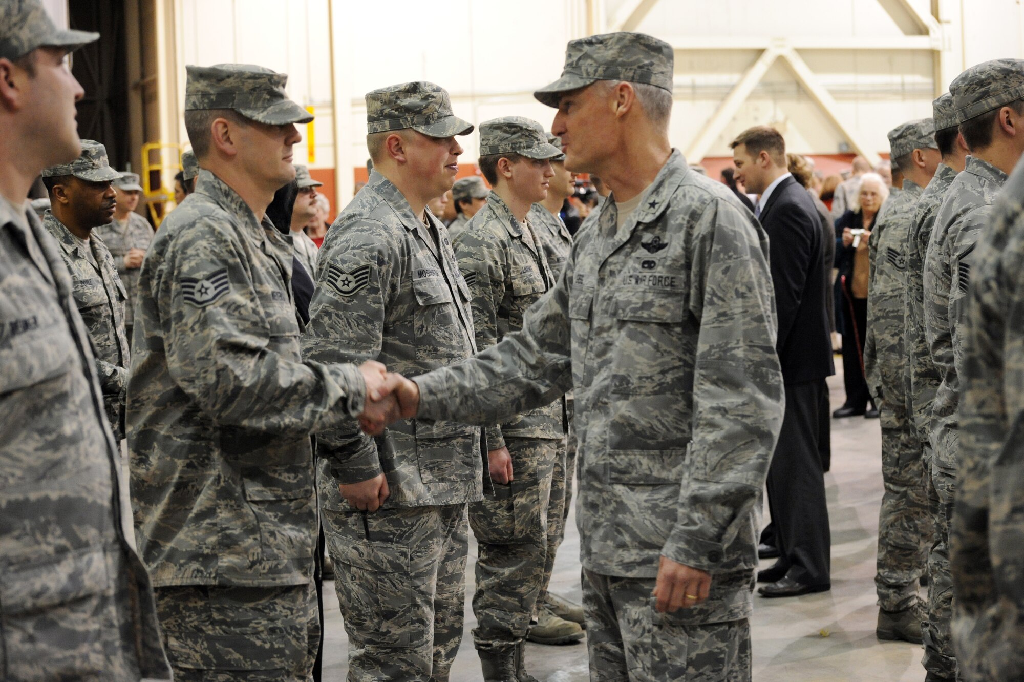
[[[885,215],[876,223],[868,241],[870,274],[864,369],[871,395],[884,403],[882,419],[887,428],[898,428],[906,415],[906,345],[903,338],[906,242],[922,191],[916,183],[904,180],[903,191],[886,202]],[[899,423],[894,422],[894,418]]]

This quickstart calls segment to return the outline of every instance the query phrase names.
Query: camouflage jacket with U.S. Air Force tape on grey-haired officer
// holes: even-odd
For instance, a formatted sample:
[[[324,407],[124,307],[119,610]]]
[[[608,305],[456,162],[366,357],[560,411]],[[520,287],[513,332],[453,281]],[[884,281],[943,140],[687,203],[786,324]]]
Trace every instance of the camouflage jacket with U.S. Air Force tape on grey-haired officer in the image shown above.
[[[583,565],[654,578],[664,555],[713,573],[684,621],[743,619],[784,403],[767,236],[678,151],[620,230],[614,206],[522,331],[417,378],[421,417],[494,422],[574,387]]]

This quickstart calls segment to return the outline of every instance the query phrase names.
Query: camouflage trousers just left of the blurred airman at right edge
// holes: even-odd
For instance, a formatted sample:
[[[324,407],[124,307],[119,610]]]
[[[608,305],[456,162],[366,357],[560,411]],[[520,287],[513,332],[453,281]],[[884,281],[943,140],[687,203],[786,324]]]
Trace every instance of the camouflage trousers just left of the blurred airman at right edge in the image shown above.
[[[956,472],[934,462],[931,446],[926,445],[928,502],[935,519],[935,540],[928,554],[928,620],[922,624],[925,641],[925,670],[943,680],[956,677],[956,653],[953,651],[950,623],[953,613],[953,586],[949,570],[949,521],[953,514],[953,491]]]

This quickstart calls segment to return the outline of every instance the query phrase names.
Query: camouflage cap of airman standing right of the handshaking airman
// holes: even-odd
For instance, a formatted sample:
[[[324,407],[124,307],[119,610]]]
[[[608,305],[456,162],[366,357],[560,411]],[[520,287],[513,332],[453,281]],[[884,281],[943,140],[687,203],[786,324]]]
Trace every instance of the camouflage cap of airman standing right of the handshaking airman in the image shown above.
[[[468,135],[473,125],[452,113],[447,90],[413,81],[367,93],[367,132],[412,128],[430,137]]]

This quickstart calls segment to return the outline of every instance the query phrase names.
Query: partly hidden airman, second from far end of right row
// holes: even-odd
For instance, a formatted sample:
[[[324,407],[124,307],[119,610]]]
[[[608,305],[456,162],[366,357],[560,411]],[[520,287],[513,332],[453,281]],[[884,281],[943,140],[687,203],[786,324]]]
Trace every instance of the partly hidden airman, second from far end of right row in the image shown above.
[[[956,112],[953,97],[948,92],[933,102],[937,141],[948,138],[956,130]],[[939,142],[940,147],[943,142]],[[950,146],[946,144],[946,146]],[[922,624],[925,643],[924,666],[931,680],[952,680],[956,675],[949,621],[952,616],[952,582],[949,577],[949,525],[952,513],[953,480],[955,471],[936,466],[932,457],[931,422],[932,401],[941,377],[932,361],[931,349],[925,337],[925,254],[932,236],[935,216],[942,200],[949,190],[956,173],[963,170],[963,150],[956,139],[951,148],[942,150],[942,163],[935,170],[931,182],[925,187],[914,208],[913,220],[907,237],[906,257],[906,311],[904,314],[907,350],[907,414],[911,429],[921,443],[925,466],[926,491],[931,509],[934,536],[928,555],[928,619]]]

